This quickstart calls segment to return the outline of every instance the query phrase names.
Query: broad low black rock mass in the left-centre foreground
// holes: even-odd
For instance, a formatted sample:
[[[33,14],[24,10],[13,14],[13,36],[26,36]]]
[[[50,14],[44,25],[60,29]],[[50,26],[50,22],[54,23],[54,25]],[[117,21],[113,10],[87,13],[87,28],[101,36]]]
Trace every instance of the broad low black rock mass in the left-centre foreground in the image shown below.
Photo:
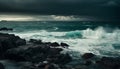
[[[66,64],[71,61],[71,57],[69,54],[61,54],[62,50],[61,48],[50,48],[46,45],[28,45],[7,50],[6,57],[15,61],[38,63],[47,60],[52,63]]]

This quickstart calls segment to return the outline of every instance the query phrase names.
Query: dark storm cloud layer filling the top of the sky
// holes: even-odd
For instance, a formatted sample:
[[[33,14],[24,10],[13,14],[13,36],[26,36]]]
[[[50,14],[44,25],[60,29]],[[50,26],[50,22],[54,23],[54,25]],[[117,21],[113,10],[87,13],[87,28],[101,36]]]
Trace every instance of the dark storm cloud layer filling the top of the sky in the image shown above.
[[[0,14],[91,16],[120,19],[120,0],[0,0]]]

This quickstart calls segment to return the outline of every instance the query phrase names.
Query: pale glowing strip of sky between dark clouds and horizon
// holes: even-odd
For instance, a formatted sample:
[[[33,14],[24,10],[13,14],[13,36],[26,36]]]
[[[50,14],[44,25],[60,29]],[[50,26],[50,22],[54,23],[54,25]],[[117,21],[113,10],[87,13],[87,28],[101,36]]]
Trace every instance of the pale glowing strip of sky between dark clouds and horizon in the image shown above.
[[[0,20],[7,21],[85,21],[86,17],[57,16],[57,15],[0,15]]]

